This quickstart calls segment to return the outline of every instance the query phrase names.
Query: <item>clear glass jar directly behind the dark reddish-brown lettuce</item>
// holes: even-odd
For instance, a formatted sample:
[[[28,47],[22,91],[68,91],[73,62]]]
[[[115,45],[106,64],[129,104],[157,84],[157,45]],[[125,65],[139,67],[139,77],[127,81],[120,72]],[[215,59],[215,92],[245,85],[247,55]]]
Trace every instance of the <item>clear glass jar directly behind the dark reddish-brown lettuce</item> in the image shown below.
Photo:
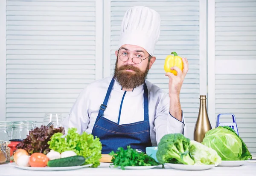
[[[14,121],[12,122],[12,139],[26,139],[29,131],[35,128],[35,121]]]

